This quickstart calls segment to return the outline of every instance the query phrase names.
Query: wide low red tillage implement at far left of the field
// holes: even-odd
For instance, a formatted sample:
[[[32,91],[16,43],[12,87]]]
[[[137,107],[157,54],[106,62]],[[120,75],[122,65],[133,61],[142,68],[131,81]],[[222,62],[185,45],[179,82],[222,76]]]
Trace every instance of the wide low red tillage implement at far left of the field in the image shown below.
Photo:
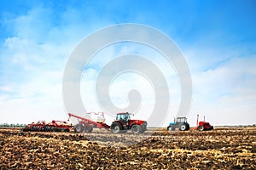
[[[63,121],[32,122],[26,127],[22,128],[23,132],[69,132],[73,128],[72,124]]]

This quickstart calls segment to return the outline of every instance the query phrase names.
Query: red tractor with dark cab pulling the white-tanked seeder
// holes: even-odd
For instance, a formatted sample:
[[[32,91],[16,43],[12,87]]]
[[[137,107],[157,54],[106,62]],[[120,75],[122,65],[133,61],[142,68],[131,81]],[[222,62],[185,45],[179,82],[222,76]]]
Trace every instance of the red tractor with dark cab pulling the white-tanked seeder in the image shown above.
[[[141,120],[131,120],[130,114],[118,113],[116,119],[112,122],[110,129],[112,133],[126,133],[131,129],[132,133],[144,133],[147,130],[148,123]]]

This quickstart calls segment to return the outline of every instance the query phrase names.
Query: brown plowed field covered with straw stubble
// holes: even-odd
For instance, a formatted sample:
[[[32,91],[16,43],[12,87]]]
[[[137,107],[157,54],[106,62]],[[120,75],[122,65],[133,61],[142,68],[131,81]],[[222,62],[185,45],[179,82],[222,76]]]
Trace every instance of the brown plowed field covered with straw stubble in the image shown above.
[[[0,150],[0,169],[256,169],[256,127],[139,135],[0,129]]]

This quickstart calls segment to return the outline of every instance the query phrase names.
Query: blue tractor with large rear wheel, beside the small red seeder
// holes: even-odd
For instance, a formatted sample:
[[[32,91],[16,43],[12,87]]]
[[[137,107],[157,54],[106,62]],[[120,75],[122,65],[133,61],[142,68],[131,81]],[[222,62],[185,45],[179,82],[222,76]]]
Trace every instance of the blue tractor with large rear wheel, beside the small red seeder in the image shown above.
[[[189,123],[187,122],[186,117],[177,117],[174,118],[174,122],[170,122],[169,126],[167,127],[167,131],[173,131],[178,128],[180,131],[189,130]]]

